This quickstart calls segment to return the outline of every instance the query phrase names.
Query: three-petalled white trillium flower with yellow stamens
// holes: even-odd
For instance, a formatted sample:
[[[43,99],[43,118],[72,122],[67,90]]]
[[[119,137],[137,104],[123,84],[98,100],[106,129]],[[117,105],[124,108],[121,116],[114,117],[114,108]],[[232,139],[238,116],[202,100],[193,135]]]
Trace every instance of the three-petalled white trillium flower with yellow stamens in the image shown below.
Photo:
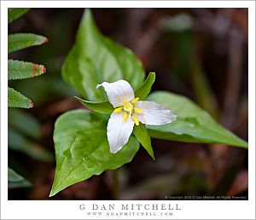
[[[103,87],[108,101],[115,108],[108,120],[107,136],[111,153],[117,153],[129,140],[134,124],[149,125],[168,124],[177,119],[169,109],[154,101],[139,101],[125,80],[114,83],[97,84],[96,89]]]

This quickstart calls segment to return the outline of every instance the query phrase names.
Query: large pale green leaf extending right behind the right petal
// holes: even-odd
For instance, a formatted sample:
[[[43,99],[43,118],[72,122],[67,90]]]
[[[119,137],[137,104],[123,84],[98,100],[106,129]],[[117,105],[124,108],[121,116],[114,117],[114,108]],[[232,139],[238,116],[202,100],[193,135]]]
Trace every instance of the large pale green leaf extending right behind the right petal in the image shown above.
[[[247,142],[224,129],[209,113],[184,96],[157,91],[148,96],[148,101],[155,101],[177,115],[177,120],[171,124],[147,126],[152,137],[179,142],[221,143],[247,148]]]

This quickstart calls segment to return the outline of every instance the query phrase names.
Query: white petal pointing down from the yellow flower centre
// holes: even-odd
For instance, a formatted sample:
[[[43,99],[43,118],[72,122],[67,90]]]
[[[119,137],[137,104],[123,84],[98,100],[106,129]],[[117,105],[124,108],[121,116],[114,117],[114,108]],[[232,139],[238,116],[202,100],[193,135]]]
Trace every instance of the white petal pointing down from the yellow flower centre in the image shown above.
[[[117,153],[129,140],[134,122],[123,120],[123,113],[112,113],[108,120],[107,135],[111,153]]]

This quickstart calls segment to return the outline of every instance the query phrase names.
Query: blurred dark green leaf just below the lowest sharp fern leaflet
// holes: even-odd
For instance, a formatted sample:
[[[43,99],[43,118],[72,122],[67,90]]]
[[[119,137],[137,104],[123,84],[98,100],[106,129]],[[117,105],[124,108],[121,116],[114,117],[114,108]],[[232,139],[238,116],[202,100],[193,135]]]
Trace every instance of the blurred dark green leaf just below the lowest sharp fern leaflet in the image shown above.
[[[40,122],[31,113],[19,108],[8,110],[8,123],[10,126],[19,130],[20,133],[39,140],[41,137]]]

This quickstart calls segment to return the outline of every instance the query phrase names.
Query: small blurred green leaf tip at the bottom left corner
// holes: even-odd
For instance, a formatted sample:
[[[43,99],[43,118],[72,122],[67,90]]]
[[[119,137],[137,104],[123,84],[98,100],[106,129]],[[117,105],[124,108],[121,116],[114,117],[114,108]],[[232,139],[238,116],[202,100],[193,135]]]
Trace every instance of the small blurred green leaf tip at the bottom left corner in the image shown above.
[[[20,174],[8,167],[8,188],[26,188],[31,187],[31,182],[27,181]]]

